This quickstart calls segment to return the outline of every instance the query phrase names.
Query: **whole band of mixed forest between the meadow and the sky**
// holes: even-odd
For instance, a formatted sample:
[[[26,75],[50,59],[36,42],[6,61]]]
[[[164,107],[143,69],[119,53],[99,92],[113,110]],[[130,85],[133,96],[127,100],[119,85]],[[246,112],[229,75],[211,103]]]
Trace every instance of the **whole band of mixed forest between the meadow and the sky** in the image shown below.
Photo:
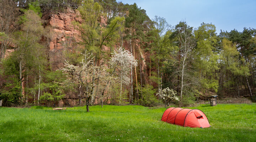
[[[58,25],[43,18],[67,11],[77,32],[56,43],[53,59]],[[255,35],[250,27],[217,34],[214,23],[170,25],[116,0],[0,0],[0,100],[61,101],[88,112],[105,104],[190,106],[210,95],[256,101]]]

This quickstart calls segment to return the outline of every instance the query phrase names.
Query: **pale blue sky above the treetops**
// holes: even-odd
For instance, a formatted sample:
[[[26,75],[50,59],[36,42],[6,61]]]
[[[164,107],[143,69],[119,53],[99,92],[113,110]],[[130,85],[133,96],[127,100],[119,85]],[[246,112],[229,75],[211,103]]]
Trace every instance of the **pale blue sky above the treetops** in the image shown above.
[[[117,0],[134,2],[146,10],[150,19],[164,17],[175,26],[181,20],[197,28],[201,23],[212,23],[220,29],[242,31],[244,27],[256,29],[256,0]]]

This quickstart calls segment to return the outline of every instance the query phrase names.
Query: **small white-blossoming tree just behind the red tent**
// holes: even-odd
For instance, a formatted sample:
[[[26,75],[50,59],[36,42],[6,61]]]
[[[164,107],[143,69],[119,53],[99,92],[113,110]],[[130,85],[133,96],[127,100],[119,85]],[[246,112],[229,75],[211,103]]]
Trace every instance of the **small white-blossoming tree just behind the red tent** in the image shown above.
[[[166,104],[167,102],[170,101],[179,101],[178,97],[176,96],[177,92],[173,89],[169,89],[169,87],[163,89],[161,92],[159,92],[156,95],[159,95],[161,99],[164,100],[165,102],[165,108],[166,108]]]

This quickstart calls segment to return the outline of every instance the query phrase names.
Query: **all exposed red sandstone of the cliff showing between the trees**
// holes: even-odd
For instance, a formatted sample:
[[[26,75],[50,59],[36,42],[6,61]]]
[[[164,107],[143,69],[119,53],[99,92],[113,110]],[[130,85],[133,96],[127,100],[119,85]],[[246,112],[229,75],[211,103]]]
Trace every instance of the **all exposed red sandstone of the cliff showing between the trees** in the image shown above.
[[[47,21],[47,25],[52,26],[53,36],[49,43],[49,60],[51,63],[52,70],[61,69],[64,66],[64,55],[63,51],[70,49],[72,43],[79,41],[79,31],[75,30],[72,21],[82,22],[79,11],[74,11],[67,8],[64,12],[45,12],[43,13],[43,20]],[[101,24],[106,25],[107,19],[101,17]],[[120,45],[115,46],[120,47]],[[128,41],[123,42],[123,47],[130,51],[130,43]],[[109,47],[103,46],[103,50],[108,51]],[[135,45],[135,58],[139,59],[138,45]],[[146,61],[149,60],[147,54],[140,54],[141,70],[142,70],[142,81],[148,83],[148,72]],[[139,64],[139,62],[138,62]],[[139,67],[137,73],[140,73]],[[135,77],[135,76],[134,76]],[[135,79],[135,78],[134,78]],[[139,76],[138,76],[139,79]]]

